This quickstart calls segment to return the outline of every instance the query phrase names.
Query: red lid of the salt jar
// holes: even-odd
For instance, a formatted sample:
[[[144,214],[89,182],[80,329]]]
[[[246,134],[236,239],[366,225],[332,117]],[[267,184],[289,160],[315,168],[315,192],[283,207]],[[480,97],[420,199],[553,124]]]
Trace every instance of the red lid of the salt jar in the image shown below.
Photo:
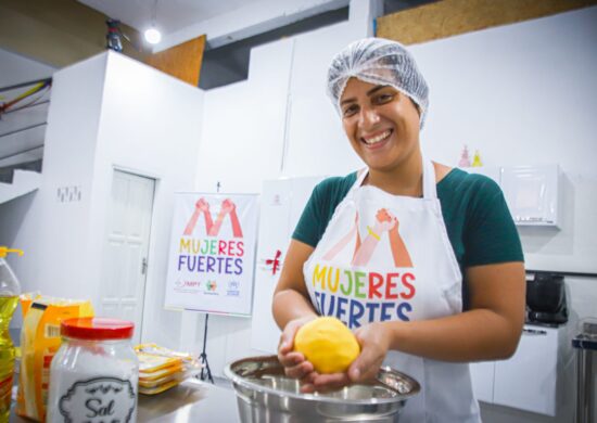
[[[106,318],[75,318],[61,323],[62,336],[79,339],[127,339],[134,330],[132,322]]]

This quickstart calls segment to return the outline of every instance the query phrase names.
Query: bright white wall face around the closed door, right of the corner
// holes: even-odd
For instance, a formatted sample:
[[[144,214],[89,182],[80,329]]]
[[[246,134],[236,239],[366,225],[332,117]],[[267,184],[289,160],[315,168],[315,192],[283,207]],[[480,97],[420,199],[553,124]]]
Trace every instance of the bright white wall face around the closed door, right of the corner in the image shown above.
[[[122,54],[109,52],[94,156],[88,284],[99,298],[113,169],[156,179],[142,339],[178,345],[181,315],[164,310],[174,193],[194,185],[203,91]]]

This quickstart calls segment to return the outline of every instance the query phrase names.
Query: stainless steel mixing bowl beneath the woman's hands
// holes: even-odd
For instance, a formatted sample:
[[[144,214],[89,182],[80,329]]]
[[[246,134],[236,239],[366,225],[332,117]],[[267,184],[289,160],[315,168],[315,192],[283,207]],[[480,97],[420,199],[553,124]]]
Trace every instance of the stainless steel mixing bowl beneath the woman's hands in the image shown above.
[[[301,394],[276,356],[238,360],[224,373],[234,385],[243,423],[398,422],[407,399],[420,390],[414,379],[383,368],[371,384]]]

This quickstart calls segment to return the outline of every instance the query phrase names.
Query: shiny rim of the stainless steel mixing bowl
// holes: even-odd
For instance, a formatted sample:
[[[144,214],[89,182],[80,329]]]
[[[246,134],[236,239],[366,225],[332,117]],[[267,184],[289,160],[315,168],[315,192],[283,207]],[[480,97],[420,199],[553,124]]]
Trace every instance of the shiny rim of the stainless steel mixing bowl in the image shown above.
[[[277,389],[264,386],[264,385],[259,385],[259,384],[254,383],[254,382],[250,382],[250,381],[239,376],[237,373],[234,373],[232,371],[232,366],[234,363],[237,363],[238,361],[240,361],[240,360],[232,361],[232,362],[226,364],[226,367],[224,368],[224,374],[226,375],[226,377],[228,377],[230,381],[232,381],[232,383],[234,385],[240,385],[244,388],[256,390],[261,394],[272,394],[272,395],[276,395],[276,396],[284,396],[284,397],[290,397],[290,398],[293,398],[293,399],[300,399],[300,400],[306,400],[306,401],[331,402],[331,403],[342,403],[342,405],[346,403],[346,399],[343,399],[343,398],[321,397],[321,396],[316,396],[316,395],[313,395],[313,394],[294,394],[294,393],[290,393],[290,392],[287,392],[287,390],[277,390]],[[382,369],[389,369],[389,368],[382,367]],[[401,374],[404,375],[404,373],[402,373],[402,372],[401,372]],[[374,405],[374,403],[392,403],[392,402],[398,402],[398,401],[402,401],[402,400],[406,400],[406,399],[417,395],[420,392],[419,383],[417,381],[415,381],[412,377],[408,376],[408,375],[405,375],[405,376],[407,376],[409,380],[415,382],[412,390],[410,390],[408,394],[399,394],[395,389],[393,389],[392,387],[388,386],[385,388],[388,390],[391,390],[391,392],[395,393],[396,394],[395,397],[393,397],[393,398],[355,399],[355,400],[350,400],[350,403],[355,405],[355,406]],[[363,385],[363,386],[367,386],[367,385]],[[236,386],[234,386],[234,390],[237,390]]]

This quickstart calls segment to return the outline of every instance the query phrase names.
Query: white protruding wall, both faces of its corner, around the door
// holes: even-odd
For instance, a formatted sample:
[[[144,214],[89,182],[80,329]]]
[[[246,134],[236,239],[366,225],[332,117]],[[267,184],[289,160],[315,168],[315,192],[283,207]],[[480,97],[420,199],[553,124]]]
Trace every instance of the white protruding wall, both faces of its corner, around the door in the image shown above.
[[[114,52],[54,75],[43,180],[38,193],[0,209],[23,291],[100,305],[101,264],[114,168],[157,180],[145,289],[143,338],[177,346],[181,315],[163,310],[175,191],[192,190],[203,91]],[[78,202],[58,201],[77,187]]]

